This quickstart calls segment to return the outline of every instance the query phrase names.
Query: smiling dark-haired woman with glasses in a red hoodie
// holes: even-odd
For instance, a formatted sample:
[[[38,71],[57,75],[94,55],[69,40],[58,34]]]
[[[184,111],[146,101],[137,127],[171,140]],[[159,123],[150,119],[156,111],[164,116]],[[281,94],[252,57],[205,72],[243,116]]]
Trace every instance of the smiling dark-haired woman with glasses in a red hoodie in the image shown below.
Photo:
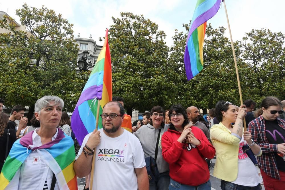
[[[210,190],[210,173],[205,158],[212,159],[215,148],[200,128],[184,128],[189,120],[182,105],[172,105],[169,117],[171,124],[161,140],[162,156],[170,168],[169,189],[199,187]]]

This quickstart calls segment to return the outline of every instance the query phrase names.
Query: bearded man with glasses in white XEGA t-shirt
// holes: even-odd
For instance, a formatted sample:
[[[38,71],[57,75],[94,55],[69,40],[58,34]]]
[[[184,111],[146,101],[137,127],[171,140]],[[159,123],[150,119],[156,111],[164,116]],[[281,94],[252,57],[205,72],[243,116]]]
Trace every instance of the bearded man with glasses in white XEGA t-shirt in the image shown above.
[[[86,135],[74,163],[78,177],[91,172],[95,154],[93,189],[148,189],[148,175],[139,139],[121,128],[124,108],[117,101],[103,107],[103,128]],[[93,152],[94,150],[94,152]],[[89,175],[90,178],[90,175]]]

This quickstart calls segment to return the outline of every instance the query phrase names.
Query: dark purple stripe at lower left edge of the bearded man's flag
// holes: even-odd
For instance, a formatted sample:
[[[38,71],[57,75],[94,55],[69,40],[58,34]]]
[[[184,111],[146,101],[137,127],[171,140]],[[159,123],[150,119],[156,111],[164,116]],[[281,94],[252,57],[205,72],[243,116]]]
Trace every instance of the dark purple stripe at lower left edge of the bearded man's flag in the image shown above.
[[[88,131],[86,130],[79,112],[78,107],[74,109],[74,112],[72,114],[72,125],[71,125],[72,131],[74,132],[76,136],[76,140],[80,145],[82,145],[84,137],[88,134]]]

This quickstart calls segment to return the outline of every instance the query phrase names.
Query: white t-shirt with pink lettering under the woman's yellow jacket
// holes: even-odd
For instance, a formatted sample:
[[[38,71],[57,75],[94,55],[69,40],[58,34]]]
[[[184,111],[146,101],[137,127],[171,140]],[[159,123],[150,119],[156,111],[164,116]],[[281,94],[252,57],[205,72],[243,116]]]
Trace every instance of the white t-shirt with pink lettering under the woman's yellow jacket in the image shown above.
[[[261,181],[257,173],[257,168],[251,159],[247,156],[247,153],[243,152],[243,145],[245,144],[247,144],[247,142],[243,140],[242,136],[241,141],[239,142],[237,179],[235,181],[232,181],[232,183],[248,187],[255,187]]]

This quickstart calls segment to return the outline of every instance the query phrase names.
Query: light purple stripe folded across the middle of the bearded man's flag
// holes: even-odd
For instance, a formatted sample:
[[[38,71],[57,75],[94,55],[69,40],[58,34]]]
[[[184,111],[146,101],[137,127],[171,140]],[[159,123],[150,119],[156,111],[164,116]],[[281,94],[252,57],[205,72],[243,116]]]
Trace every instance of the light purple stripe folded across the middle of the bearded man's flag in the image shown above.
[[[99,86],[93,85],[93,86],[87,88],[80,95],[80,98],[76,104],[76,107],[80,106],[83,102],[85,102],[87,100],[94,99],[95,97],[97,97],[97,99],[101,100],[102,99],[102,91],[103,91],[103,84],[101,84]]]

